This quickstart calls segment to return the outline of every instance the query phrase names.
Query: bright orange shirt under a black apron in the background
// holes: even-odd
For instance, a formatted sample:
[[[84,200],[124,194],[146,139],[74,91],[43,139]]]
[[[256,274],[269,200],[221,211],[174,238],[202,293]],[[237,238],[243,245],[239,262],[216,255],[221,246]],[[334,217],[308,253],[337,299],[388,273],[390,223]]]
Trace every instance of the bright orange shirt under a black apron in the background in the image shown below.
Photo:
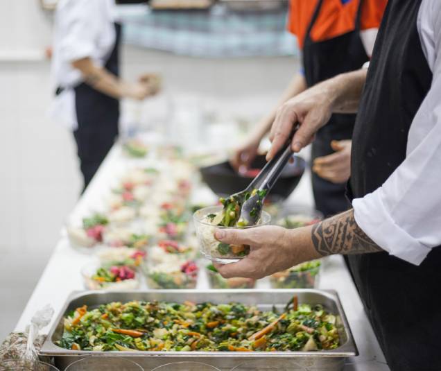
[[[311,23],[319,0],[290,0],[288,31],[297,36],[300,49],[303,49],[306,31]],[[361,30],[379,28],[388,0],[363,0],[361,9]],[[323,0],[318,18],[311,30],[315,42],[354,31],[356,14],[360,0]]]

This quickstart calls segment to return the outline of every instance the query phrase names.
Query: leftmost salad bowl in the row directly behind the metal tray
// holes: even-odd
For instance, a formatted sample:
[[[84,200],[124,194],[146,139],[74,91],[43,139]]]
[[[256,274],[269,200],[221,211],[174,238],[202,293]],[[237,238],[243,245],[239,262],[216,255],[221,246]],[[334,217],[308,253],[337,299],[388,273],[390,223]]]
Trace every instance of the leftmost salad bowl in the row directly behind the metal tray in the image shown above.
[[[125,264],[87,264],[81,270],[87,290],[135,290],[139,288],[139,275],[133,266]]]

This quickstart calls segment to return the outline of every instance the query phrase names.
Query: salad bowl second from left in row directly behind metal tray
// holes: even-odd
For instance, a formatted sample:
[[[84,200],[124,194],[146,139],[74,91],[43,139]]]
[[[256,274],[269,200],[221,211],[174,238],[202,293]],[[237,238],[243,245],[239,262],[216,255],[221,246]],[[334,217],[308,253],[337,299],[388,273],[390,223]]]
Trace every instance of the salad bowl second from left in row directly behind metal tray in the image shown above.
[[[164,261],[145,269],[149,288],[196,288],[199,268],[195,261]]]

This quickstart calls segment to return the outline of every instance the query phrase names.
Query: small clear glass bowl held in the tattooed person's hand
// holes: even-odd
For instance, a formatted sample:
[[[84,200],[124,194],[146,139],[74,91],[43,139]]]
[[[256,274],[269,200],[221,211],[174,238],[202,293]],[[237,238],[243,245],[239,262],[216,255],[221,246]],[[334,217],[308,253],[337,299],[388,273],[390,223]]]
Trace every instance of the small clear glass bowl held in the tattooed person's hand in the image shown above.
[[[227,243],[219,242],[214,238],[214,232],[218,229],[245,229],[257,228],[262,225],[267,225],[271,221],[271,216],[267,212],[262,211],[261,221],[258,225],[251,225],[250,227],[218,227],[205,221],[208,214],[217,214],[223,209],[222,206],[209,206],[199,209],[193,214],[193,221],[198,236],[200,252],[207,259],[218,261],[219,263],[232,263],[243,259],[250,252],[248,245],[228,245]]]

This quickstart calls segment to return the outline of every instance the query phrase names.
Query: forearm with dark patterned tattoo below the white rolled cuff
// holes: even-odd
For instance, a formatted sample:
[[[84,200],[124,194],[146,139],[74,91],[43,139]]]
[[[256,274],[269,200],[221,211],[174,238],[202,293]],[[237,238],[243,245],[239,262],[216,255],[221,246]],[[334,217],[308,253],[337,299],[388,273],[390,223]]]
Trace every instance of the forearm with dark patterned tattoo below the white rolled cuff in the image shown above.
[[[314,225],[311,237],[315,250],[323,256],[382,251],[358,227],[353,209]]]

